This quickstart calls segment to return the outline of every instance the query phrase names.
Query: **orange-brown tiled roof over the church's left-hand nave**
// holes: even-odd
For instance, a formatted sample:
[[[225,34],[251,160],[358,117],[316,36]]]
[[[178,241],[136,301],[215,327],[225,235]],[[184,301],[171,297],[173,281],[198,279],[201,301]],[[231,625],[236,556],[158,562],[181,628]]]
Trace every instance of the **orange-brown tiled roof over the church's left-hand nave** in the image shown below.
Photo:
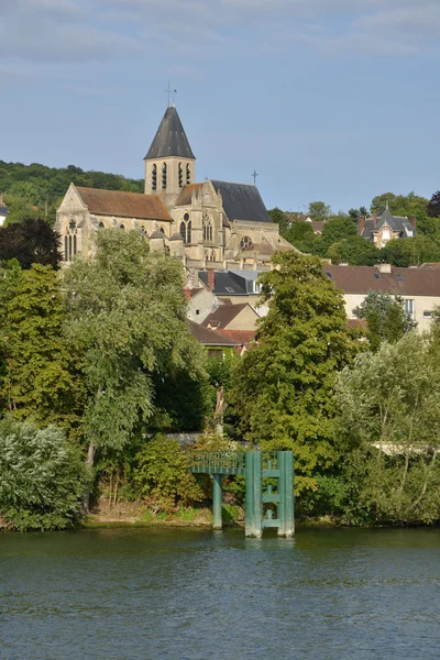
[[[157,195],[81,187],[76,189],[90,213],[142,220],[170,220],[168,211]]]

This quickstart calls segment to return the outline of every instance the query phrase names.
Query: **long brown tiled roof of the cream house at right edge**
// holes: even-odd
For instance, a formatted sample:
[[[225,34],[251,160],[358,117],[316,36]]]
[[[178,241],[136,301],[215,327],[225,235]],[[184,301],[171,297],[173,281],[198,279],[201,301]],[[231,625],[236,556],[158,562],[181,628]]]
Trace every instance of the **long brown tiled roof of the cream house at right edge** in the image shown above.
[[[381,273],[376,266],[326,265],[322,273],[330,276],[346,294],[382,292],[400,296],[440,296],[440,270],[397,268]]]

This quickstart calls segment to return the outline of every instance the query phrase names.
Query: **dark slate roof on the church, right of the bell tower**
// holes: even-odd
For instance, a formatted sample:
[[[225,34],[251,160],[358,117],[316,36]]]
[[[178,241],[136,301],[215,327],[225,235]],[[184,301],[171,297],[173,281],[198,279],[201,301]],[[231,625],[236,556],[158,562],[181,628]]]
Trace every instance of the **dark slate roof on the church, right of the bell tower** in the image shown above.
[[[230,222],[233,220],[251,220],[253,222],[272,222],[258,189],[250,184],[230,184],[211,180],[216,191],[220,193],[223,209]]]

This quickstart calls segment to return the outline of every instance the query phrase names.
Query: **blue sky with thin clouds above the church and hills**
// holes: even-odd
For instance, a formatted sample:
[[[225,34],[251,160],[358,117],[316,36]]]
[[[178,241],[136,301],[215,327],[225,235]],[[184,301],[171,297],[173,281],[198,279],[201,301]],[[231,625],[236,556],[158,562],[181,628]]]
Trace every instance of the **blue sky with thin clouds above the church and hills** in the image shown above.
[[[430,198],[439,33],[439,0],[0,0],[0,160],[142,178],[169,81],[198,180]]]

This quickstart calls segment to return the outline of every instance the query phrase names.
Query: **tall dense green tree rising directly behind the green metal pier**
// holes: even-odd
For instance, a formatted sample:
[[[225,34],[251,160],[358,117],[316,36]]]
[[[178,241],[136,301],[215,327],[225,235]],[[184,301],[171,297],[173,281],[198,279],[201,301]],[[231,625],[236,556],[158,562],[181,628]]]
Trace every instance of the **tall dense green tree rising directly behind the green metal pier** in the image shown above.
[[[231,403],[248,441],[293,450],[296,488],[316,487],[337,461],[333,388],[337,372],[355,351],[342,292],[322,274],[319,258],[294,252],[273,257],[261,276],[270,306],[258,343],[238,364]]]

